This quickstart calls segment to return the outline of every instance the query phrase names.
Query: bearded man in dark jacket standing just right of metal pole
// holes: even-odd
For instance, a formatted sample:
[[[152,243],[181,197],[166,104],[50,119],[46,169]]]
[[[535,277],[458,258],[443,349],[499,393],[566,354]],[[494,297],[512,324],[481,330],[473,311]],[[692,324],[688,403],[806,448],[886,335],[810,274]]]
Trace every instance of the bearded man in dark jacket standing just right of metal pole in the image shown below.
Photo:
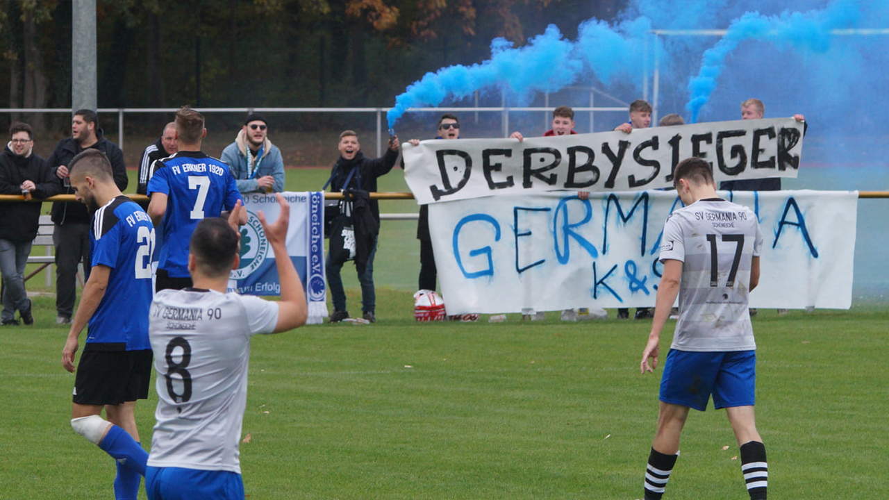
[[[62,139],[49,159],[56,177],[63,186],[62,194],[74,194],[68,182],[68,163],[84,149],[94,148],[108,156],[117,188],[125,190],[124,153],[114,142],[105,139],[99,117],[91,109],[78,109],[71,120],[71,137]],[[56,249],[56,323],[68,324],[77,298],[77,264],[83,260],[84,273],[90,272],[91,215],[83,203],[56,202],[52,204],[52,243]]]

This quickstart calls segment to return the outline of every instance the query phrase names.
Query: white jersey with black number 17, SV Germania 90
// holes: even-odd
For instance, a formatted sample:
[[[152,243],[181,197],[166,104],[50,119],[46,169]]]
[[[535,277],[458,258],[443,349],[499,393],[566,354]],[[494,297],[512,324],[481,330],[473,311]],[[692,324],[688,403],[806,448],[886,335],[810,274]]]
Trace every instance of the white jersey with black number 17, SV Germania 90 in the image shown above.
[[[672,349],[756,349],[748,312],[750,262],[762,246],[757,215],[746,206],[710,198],[670,214],[660,259],[683,262]]]

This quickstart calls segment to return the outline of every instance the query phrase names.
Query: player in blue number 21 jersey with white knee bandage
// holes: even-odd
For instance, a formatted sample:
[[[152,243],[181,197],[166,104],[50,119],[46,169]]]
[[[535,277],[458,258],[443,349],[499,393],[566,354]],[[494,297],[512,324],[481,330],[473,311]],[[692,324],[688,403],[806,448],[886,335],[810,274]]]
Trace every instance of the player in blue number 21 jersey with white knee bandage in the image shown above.
[[[116,459],[118,500],[135,499],[148,454],[140,447],[133,411],[148,398],[151,344],[151,251],[155,229],[140,206],[117,188],[111,162],[85,149],[68,164],[75,198],[92,212],[92,272],[84,286],[61,364],[75,372],[71,427]],[[79,367],[77,338],[89,323]],[[105,409],[108,420],[102,419]]]

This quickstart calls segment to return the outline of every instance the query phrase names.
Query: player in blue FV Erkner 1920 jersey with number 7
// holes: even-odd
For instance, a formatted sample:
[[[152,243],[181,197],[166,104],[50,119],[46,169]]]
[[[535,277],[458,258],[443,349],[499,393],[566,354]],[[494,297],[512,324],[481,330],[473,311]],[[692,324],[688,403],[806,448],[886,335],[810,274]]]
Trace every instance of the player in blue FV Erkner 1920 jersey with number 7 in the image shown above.
[[[148,181],[148,214],[158,224],[164,222],[164,239],[157,264],[156,289],[181,290],[191,286],[188,275],[188,241],[197,223],[205,217],[218,217],[242,200],[228,165],[201,152],[207,134],[204,116],[183,106],[176,113],[176,139],[179,151],[157,160]],[[239,222],[247,222],[246,210]]]

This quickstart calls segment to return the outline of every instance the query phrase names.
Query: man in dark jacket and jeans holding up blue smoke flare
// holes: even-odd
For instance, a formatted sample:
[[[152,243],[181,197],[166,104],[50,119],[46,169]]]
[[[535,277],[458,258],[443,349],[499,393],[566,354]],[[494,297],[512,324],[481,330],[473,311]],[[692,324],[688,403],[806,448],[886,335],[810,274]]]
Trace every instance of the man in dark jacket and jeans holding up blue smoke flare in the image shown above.
[[[398,158],[398,138],[393,137],[389,141],[388,149],[383,157],[368,159],[361,152],[358,143],[358,134],[347,130],[340,133],[340,159],[333,165],[331,173],[331,191],[345,189],[364,190],[368,192],[377,190],[377,177],[385,175],[395,166]],[[348,185],[347,184],[348,181]],[[380,205],[377,200],[370,200],[370,209],[373,217],[380,222]],[[358,281],[361,283],[361,309],[364,319],[371,323],[376,321],[374,310],[376,308],[376,293],[373,290],[373,256],[376,254],[376,235],[373,238],[372,250],[364,265],[364,272],[359,270]],[[327,255],[325,264],[327,270],[327,286],[330,287],[333,299],[333,313],[330,322],[336,323],[348,318],[346,310],[346,291],[342,286],[340,270],[342,264],[333,264],[330,254]]]

